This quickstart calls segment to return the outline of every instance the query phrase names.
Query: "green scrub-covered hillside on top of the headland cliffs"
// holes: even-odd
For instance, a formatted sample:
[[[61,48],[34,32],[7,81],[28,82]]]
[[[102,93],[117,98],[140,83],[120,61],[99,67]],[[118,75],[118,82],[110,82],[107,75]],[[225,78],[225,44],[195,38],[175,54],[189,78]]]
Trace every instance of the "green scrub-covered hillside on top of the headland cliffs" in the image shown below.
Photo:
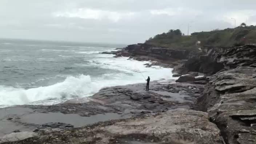
[[[172,49],[194,50],[197,49],[196,42],[202,45],[214,47],[231,47],[237,44],[256,43],[256,26],[245,26],[213,30],[210,32],[195,32],[185,36],[179,29],[170,30],[167,33],[149,38],[145,43],[156,47],[167,47]]]

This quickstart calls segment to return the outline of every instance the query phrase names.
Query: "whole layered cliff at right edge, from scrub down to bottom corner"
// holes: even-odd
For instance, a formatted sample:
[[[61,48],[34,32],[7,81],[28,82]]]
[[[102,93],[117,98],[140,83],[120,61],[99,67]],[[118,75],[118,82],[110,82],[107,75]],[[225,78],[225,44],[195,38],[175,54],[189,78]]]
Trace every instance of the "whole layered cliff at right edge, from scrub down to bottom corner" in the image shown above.
[[[223,69],[208,77],[198,99],[229,144],[256,143],[256,47],[207,48],[205,54]],[[201,61],[203,63],[203,61]]]

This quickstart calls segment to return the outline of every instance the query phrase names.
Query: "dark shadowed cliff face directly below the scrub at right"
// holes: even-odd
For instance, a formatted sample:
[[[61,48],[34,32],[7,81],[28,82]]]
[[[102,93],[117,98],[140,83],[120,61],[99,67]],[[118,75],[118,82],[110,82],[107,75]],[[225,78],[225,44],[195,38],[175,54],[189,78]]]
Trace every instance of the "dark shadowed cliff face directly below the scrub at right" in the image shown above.
[[[202,51],[174,67],[173,72],[185,74],[196,71],[210,76],[219,71],[249,66],[256,62],[256,46],[242,45],[230,48],[203,47]]]

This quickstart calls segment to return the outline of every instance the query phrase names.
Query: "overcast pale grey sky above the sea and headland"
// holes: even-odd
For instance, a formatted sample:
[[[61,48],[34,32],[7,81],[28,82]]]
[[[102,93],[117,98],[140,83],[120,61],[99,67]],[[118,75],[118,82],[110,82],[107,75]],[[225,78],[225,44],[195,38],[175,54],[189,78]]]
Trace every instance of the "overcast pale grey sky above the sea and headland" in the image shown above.
[[[0,37],[143,43],[181,29],[256,25],[256,0],[0,0]],[[234,19],[231,19],[234,18]]]

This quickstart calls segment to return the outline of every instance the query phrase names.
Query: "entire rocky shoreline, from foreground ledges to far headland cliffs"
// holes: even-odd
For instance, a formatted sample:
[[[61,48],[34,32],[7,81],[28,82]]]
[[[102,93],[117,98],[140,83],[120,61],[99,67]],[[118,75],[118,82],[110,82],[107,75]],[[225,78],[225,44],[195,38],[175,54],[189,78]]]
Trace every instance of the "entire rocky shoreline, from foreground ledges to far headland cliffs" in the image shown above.
[[[108,54],[190,75],[179,77],[180,83],[154,81],[149,92],[145,84],[131,84],[57,105],[0,109],[0,142],[256,143],[255,46],[187,52],[136,44]]]

